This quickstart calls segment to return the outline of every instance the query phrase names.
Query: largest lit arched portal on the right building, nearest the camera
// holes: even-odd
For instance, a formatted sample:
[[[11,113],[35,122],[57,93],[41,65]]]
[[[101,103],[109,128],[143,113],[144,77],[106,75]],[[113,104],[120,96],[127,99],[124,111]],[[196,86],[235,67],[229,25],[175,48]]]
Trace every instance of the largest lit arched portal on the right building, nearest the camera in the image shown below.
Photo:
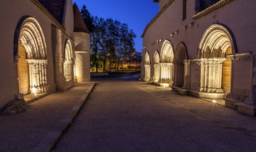
[[[227,54],[236,52],[233,33],[228,27],[213,24],[203,34],[199,44],[198,58],[201,58],[201,92],[230,92],[231,61]]]

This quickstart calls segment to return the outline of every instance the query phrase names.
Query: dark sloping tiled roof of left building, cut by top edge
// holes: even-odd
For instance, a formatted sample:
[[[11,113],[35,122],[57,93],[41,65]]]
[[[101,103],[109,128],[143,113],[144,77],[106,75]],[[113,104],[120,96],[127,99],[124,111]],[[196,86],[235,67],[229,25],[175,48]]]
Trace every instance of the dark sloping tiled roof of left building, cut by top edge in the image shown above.
[[[38,0],[60,23],[63,22],[65,0]]]

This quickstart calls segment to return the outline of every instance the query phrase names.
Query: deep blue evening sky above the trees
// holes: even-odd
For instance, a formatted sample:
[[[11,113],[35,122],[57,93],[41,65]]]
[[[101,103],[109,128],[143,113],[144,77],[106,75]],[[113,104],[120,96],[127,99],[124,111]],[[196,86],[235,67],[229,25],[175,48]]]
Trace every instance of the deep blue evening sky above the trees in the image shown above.
[[[142,33],[146,25],[159,11],[158,3],[153,0],[73,0],[81,10],[86,6],[91,16],[112,18],[127,23],[129,28],[137,34],[135,48],[142,52]]]

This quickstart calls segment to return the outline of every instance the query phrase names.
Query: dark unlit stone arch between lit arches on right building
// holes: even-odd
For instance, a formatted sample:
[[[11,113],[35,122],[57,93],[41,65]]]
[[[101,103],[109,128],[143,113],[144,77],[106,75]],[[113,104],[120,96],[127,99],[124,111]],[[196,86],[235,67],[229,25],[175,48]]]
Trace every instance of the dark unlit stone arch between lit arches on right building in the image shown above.
[[[186,45],[183,42],[180,42],[176,47],[176,53],[175,53],[175,79],[174,80],[175,80],[176,87],[183,87],[184,80],[188,79],[188,69],[187,69],[188,67],[185,66],[187,61],[188,61],[188,53],[187,53]]]

